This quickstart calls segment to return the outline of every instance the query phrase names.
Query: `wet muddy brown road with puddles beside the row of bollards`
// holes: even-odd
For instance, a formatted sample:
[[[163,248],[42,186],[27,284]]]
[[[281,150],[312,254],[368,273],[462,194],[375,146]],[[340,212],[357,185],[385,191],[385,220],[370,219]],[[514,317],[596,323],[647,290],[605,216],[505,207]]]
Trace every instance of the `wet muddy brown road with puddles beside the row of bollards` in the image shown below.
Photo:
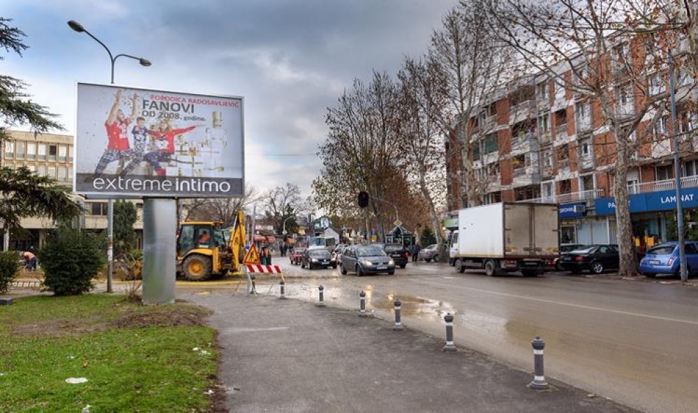
[[[300,269],[285,258],[275,263],[288,296],[315,301],[323,285],[329,305],[357,309],[364,290],[367,308],[385,318],[399,297],[404,324],[434,336],[444,335],[442,318],[450,312],[456,345],[523,370],[532,370],[530,340],[541,336],[551,377],[648,412],[698,409],[697,287],[613,274],[488,278],[433,263],[359,278]],[[269,292],[269,280],[260,284]],[[271,291],[278,294],[278,285]]]

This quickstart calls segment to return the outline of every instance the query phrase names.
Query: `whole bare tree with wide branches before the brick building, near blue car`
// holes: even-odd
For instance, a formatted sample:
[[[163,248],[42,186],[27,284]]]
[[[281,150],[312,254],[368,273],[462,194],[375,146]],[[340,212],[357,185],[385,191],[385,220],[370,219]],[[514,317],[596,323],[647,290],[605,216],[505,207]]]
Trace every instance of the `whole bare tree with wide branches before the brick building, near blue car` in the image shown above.
[[[597,141],[608,137],[610,142],[602,153],[614,174],[619,273],[634,275],[628,167],[665,113],[669,88],[653,89],[652,79],[667,79],[662,43],[677,35],[676,28],[666,24],[672,21],[673,9],[657,0],[471,3],[487,10],[493,17],[492,33],[524,61],[571,91],[579,105],[589,105],[589,112],[598,108],[600,119],[591,126]]]

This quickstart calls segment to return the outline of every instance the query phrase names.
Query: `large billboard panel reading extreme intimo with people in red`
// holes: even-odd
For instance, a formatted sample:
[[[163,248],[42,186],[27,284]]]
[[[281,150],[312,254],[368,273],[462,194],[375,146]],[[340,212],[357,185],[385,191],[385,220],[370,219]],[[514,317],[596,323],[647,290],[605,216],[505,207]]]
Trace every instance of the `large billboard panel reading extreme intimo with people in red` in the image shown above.
[[[241,196],[243,99],[78,83],[74,170],[84,195]]]

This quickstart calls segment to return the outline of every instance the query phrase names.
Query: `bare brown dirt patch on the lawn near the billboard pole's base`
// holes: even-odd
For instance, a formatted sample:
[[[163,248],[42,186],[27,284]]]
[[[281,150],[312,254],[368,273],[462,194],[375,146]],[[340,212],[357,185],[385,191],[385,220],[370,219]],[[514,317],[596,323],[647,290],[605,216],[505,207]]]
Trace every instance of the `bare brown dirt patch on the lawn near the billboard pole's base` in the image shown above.
[[[112,322],[112,326],[120,329],[149,326],[203,326],[207,315],[209,312],[202,308],[154,308],[149,311],[121,315]]]

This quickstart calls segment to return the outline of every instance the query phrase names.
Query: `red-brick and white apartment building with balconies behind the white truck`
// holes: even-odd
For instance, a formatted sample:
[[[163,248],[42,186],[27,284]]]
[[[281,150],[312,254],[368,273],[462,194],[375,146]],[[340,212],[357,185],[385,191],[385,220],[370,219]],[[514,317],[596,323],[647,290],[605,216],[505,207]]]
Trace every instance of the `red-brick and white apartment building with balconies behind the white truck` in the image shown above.
[[[619,53],[636,43],[619,43]],[[642,53],[632,54],[643,59]],[[640,62],[641,64],[641,62]],[[614,66],[613,70],[623,70]],[[622,73],[621,73],[622,74]],[[664,73],[664,75],[666,75]],[[560,68],[558,76],[537,74],[517,80],[493,91],[491,100],[483,102],[477,114],[468,119],[474,148],[470,162],[476,168],[477,192],[484,202],[554,202],[560,204],[561,243],[616,242],[615,202],[613,197],[616,146],[609,128],[604,127],[600,105],[588,100],[571,87],[569,67]],[[695,87],[688,70],[679,73],[679,90]],[[636,103],[648,94],[662,93],[662,74],[648,73],[644,89],[637,84],[616,84],[618,119],[628,123],[636,119]],[[689,109],[691,93],[678,102],[677,133],[681,136],[682,200],[689,211],[689,225],[698,221],[698,138],[693,131],[698,117]],[[671,226],[676,218],[674,196],[674,146],[669,131],[669,112],[632,153],[628,172],[630,211],[638,246],[646,239],[673,239]],[[647,121],[640,123],[642,130]],[[460,145],[459,145],[460,144]],[[454,135],[447,140],[447,207],[449,211],[468,204],[462,153],[452,149],[462,146]],[[472,146],[471,146],[472,147]],[[692,216],[695,213],[696,218]]]

